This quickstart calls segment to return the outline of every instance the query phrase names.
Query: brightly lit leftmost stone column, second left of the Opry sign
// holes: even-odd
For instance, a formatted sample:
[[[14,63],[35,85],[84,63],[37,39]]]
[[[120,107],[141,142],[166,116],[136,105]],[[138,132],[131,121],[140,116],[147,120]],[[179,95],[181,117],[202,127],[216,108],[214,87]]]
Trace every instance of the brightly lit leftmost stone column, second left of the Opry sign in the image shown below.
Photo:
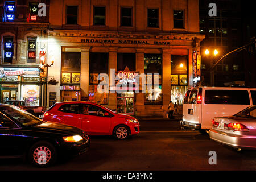
[[[85,97],[88,100],[89,97],[89,55],[90,46],[81,46],[81,100]]]

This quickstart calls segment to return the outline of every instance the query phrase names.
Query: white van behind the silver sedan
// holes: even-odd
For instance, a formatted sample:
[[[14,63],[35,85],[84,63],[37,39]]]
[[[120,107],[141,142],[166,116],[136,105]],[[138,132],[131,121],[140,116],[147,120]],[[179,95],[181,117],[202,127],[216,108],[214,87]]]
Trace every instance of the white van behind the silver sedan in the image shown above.
[[[203,132],[212,128],[214,117],[234,115],[250,105],[256,105],[256,88],[191,88],[184,97],[180,124]]]

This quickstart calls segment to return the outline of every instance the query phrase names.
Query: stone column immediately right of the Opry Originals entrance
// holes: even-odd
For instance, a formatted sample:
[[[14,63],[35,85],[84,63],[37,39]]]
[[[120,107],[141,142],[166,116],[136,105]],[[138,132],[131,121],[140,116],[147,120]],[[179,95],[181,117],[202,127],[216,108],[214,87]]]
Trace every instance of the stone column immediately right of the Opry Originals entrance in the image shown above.
[[[136,51],[136,71],[141,74],[144,73],[144,48],[137,48]],[[146,115],[144,105],[144,93],[141,93],[141,86],[142,85],[140,85],[140,93],[135,94],[135,115],[138,116]]]

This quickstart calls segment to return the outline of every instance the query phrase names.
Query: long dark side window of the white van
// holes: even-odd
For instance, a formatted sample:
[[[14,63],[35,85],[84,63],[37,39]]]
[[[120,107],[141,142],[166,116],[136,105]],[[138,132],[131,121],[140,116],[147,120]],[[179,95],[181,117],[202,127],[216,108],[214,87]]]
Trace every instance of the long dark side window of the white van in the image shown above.
[[[205,90],[205,104],[250,105],[247,90]]]

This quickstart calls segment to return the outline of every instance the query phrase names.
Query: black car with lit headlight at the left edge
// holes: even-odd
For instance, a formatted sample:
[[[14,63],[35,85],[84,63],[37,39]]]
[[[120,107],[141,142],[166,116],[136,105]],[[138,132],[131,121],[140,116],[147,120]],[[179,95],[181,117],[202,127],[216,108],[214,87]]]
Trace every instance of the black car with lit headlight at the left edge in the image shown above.
[[[44,122],[19,107],[0,104],[0,155],[23,157],[39,167],[57,156],[88,151],[90,138],[77,127]]]

